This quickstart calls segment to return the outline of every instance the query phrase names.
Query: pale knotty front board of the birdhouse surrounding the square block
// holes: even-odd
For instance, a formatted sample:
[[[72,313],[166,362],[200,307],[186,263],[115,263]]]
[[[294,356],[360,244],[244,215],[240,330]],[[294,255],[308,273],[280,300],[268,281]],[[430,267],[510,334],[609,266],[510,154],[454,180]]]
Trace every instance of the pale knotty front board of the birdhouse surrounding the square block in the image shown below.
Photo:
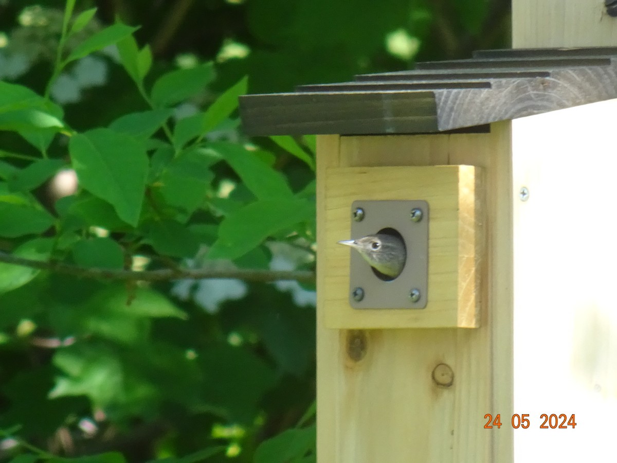
[[[327,170],[434,164],[475,165],[486,174],[491,193],[484,223],[487,259],[478,288],[484,301],[481,327],[327,328]],[[512,410],[510,165],[510,123],[494,125],[487,134],[318,137],[319,462],[511,460],[511,432],[482,428],[487,412]],[[358,336],[363,354],[350,356],[357,348],[347,344]],[[452,369],[451,386],[433,380],[441,364]]]

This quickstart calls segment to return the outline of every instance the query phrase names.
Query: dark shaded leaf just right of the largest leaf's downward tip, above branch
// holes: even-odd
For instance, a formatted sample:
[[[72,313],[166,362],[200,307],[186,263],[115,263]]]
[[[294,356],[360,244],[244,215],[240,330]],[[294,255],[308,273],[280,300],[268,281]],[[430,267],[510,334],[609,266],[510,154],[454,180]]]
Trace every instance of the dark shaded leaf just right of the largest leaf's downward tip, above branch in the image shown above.
[[[152,248],[164,256],[194,257],[199,249],[197,236],[175,220],[149,223],[144,242],[152,244]]]

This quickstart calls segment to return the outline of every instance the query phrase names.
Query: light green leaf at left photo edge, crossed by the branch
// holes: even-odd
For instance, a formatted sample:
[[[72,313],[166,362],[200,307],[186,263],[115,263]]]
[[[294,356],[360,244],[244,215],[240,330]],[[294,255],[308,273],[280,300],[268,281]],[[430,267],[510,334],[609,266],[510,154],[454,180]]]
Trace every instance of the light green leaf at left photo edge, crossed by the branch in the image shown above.
[[[52,238],[35,238],[23,243],[12,252],[12,255],[33,261],[47,261],[53,241]],[[29,283],[39,272],[41,272],[39,269],[0,262],[0,275],[2,275],[2,278],[0,278],[0,294]]]

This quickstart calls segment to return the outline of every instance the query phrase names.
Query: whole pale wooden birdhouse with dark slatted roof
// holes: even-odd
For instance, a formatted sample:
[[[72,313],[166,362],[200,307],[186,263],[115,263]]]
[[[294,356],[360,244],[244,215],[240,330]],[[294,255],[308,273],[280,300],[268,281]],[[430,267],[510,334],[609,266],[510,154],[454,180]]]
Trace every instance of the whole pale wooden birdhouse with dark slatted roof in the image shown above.
[[[613,21],[515,1],[517,48],[241,98],[318,135],[319,463],[614,454]],[[394,278],[337,243],[380,233]]]

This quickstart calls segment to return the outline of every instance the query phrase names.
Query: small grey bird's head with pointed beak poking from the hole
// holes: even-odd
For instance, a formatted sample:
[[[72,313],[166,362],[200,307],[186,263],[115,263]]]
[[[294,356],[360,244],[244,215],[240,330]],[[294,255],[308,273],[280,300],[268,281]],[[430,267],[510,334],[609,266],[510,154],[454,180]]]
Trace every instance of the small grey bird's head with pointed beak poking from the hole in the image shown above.
[[[405,267],[407,260],[405,243],[396,236],[377,233],[357,240],[339,241],[339,244],[345,244],[360,252],[360,256],[373,269],[387,277],[398,277]]]

